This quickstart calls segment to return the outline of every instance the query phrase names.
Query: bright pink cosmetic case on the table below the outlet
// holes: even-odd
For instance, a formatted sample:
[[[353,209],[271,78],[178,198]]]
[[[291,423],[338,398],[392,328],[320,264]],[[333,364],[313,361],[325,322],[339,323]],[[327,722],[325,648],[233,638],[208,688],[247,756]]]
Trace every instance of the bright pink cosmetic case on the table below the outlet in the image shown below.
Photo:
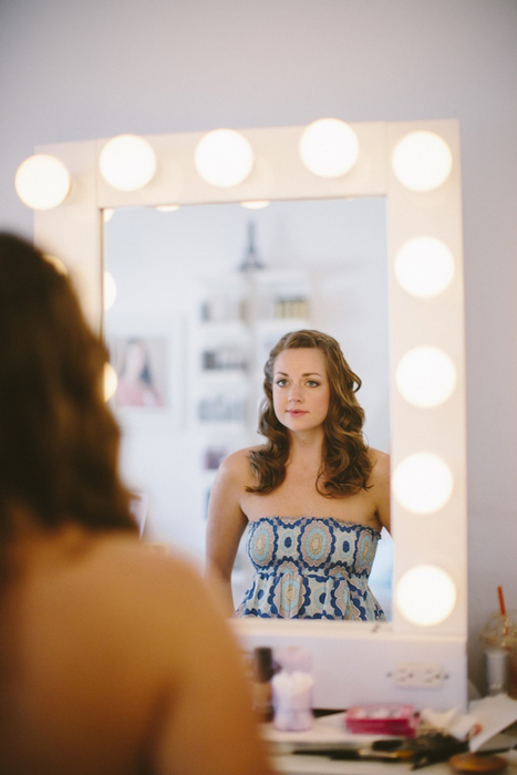
[[[344,725],[349,732],[373,735],[414,737],[418,715],[413,705],[379,703],[353,705],[349,709]]]

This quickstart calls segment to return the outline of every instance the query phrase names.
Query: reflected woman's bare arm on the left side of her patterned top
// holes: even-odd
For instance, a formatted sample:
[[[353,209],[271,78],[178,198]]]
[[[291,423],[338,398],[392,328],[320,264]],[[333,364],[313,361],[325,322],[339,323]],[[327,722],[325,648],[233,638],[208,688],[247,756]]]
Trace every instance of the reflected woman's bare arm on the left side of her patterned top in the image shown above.
[[[220,587],[227,616],[231,616],[235,610],[231,571],[240,538],[248,524],[240,508],[240,496],[246,486],[248,471],[246,450],[240,450],[223,461],[208,505],[206,571]]]

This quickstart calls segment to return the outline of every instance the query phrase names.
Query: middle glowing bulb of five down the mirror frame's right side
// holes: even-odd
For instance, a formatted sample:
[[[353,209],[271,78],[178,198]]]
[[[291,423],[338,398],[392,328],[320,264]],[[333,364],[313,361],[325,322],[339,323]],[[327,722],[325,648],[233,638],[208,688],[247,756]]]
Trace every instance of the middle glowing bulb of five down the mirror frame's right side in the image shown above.
[[[446,352],[434,347],[410,350],[399,362],[396,386],[410,404],[432,409],[443,404],[456,386],[456,368]]]

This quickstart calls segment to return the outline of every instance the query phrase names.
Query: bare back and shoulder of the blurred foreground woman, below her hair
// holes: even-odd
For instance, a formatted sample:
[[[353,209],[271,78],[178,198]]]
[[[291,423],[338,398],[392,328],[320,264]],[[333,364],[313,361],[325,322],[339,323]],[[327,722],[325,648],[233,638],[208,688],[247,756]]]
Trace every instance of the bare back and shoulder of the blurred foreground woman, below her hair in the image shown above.
[[[138,758],[156,773],[269,773],[237,643],[197,567],[136,536],[75,534],[30,547],[12,588],[23,600],[28,696],[52,719],[39,728],[73,741],[63,757],[81,752],[77,730],[93,728],[84,772],[122,772],[131,756],[132,771]],[[71,772],[63,762],[55,769]]]

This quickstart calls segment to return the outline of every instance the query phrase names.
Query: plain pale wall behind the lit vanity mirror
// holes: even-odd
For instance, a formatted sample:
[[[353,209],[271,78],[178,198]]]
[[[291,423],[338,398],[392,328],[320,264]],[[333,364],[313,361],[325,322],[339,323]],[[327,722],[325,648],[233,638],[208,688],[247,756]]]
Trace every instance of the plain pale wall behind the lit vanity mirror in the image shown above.
[[[465,228],[471,664],[517,607],[515,0],[3,0],[0,224],[34,145],[218,126],[458,118]],[[446,539],[446,538],[445,538]]]

